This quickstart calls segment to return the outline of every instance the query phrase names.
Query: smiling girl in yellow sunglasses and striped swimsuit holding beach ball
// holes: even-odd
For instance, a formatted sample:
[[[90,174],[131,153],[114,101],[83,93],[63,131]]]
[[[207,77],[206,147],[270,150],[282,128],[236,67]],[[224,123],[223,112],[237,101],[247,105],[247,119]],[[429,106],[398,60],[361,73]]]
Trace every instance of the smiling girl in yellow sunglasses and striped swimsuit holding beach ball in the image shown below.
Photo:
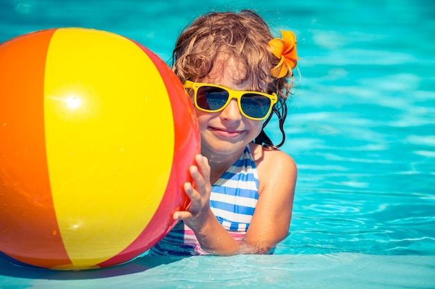
[[[195,103],[202,155],[187,211],[149,255],[268,254],[288,236],[297,168],[284,143],[295,35],[275,38],[250,10],[211,12],[179,36],[173,69]],[[290,80],[290,82],[288,81]],[[263,131],[279,118],[278,146]]]

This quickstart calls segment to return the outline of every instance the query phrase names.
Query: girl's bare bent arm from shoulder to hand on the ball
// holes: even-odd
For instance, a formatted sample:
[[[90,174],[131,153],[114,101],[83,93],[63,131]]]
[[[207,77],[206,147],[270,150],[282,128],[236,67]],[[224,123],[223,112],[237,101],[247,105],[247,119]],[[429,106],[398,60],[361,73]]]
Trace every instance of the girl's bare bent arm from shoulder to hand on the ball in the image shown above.
[[[238,243],[216,220],[210,209],[210,167],[205,158],[197,157],[197,166],[190,168],[195,188],[186,183],[190,197],[188,211],[174,213],[174,219],[184,220],[197,236],[202,249],[212,254],[267,254],[288,235],[296,166],[291,157],[280,151],[265,151],[263,164],[258,166],[260,191],[257,206],[245,236]]]

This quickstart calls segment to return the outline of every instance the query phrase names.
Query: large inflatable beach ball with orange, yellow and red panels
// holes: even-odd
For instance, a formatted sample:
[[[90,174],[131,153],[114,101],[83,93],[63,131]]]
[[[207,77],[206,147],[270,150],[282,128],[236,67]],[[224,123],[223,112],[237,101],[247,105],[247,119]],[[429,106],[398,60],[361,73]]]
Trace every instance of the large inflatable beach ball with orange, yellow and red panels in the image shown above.
[[[0,45],[0,252],[60,270],[146,252],[186,209],[199,152],[183,85],[154,53],[85,28]]]

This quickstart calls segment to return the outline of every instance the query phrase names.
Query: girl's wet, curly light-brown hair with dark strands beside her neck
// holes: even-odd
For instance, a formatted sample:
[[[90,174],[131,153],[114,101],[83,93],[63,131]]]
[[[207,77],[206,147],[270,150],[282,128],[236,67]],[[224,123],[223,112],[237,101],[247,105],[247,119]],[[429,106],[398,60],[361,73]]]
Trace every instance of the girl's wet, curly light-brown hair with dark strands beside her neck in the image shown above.
[[[254,140],[273,150],[282,146],[286,139],[286,100],[290,96],[292,83],[288,78],[274,78],[270,75],[270,69],[279,62],[268,46],[272,38],[268,24],[256,12],[209,12],[197,18],[179,35],[172,53],[172,69],[181,82],[195,81],[208,76],[218,56],[225,55],[238,62],[240,71],[245,71],[245,74],[236,81],[240,84],[249,82],[253,90],[268,94],[274,92],[278,96],[272,113]],[[279,119],[282,134],[282,141],[277,146],[273,145],[264,132],[273,114]]]

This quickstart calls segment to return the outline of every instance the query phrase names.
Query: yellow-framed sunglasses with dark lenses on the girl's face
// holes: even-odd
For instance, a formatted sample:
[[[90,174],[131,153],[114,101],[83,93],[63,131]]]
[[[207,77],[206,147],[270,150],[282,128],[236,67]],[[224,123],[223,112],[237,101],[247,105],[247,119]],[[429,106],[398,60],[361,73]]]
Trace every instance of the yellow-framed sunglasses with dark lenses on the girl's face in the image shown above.
[[[236,91],[220,85],[209,83],[184,82],[186,89],[193,89],[195,92],[195,107],[203,112],[220,112],[229,104],[230,100],[236,98],[240,113],[253,119],[263,121],[277,103],[277,94],[263,94],[257,91]]]

